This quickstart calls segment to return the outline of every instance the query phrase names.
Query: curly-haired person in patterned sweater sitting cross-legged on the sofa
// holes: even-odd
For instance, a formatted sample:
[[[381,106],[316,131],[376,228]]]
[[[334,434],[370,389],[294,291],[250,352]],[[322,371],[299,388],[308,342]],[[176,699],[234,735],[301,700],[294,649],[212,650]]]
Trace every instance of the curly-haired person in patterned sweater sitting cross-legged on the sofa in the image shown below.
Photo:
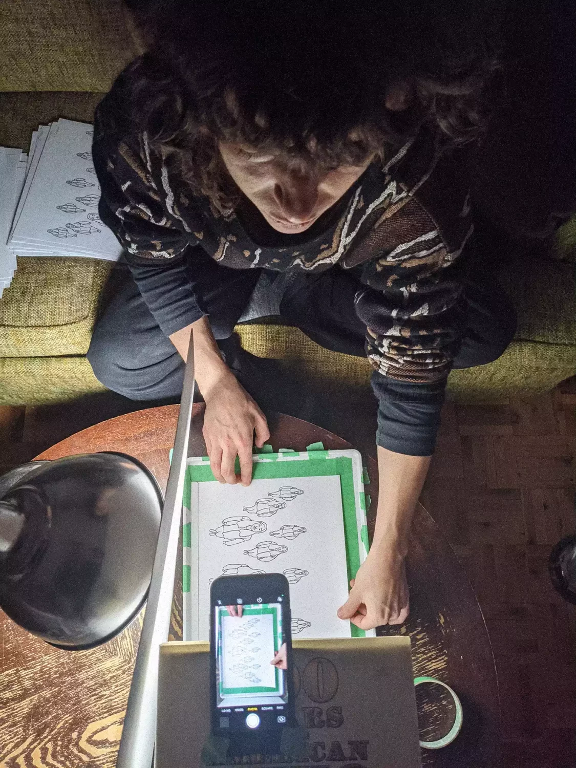
[[[367,356],[379,400],[378,514],[339,617],[362,629],[402,623],[410,522],[446,378],[497,358],[515,329],[490,276],[484,285],[470,276],[462,147],[488,119],[492,9],[145,5],[147,52],[95,114],[100,215],[131,276],[88,359],[128,397],[177,396],[193,333],[210,465],[220,482],[247,485],[254,433],[258,446],[270,433],[218,341],[263,276],[287,322],[327,349]]]

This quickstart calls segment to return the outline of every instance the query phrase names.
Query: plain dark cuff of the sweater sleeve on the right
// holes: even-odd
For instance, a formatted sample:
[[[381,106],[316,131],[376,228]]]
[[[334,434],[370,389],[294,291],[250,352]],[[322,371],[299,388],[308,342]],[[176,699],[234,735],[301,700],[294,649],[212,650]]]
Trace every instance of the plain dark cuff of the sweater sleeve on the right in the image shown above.
[[[379,400],[377,445],[409,456],[431,456],[440,427],[445,380],[411,384],[372,374]]]

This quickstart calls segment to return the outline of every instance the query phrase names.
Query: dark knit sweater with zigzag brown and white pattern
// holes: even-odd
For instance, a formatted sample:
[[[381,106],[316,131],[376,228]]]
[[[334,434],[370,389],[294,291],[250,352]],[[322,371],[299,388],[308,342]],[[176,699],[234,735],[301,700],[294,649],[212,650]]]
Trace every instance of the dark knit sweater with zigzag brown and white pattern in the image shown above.
[[[125,247],[164,333],[203,314],[181,268],[197,247],[233,269],[354,269],[366,286],[356,296],[356,313],[366,325],[366,355],[376,371],[379,445],[432,453],[462,335],[462,290],[472,251],[462,151],[446,150],[439,134],[422,128],[386,164],[368,167],[328,231],[305,243],[300,236],[298,245],[265,247],[251,239],[233,210],[220,214],[170,172],[146,132],[127,118],[127,88],[122,73],[95,114],[100,215]],[[150,284],[147,268],[156,276]]]

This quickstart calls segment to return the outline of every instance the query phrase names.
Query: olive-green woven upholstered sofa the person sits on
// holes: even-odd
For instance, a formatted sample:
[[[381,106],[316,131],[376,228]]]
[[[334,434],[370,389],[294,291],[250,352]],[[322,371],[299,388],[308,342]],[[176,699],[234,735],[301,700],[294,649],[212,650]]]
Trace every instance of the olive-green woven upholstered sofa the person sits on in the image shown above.
[[[0,145],[27,148],[39,123],[91,121],[95,104],[139,47],[120,0],[10,0],[0,7],[0,50]],[[521,124],[518,111],[532,114],[529,94],[520,88],[516,99],[500,117],[515,111]],[[576,372],[576,221],[551,235],[549,217],[531,197],[537,183],[530,187],[528,179],[522,192],[521,184],[511,184],[508,167],[498,185],[494,174],[517,147],[506,152],[502,136],[496,144],[501,156],[488,152],[475,161],[478,207],[509,230],[539,236],[541,247],[520,243],[490,267],[515,301],[518,332],[498,361],[452,372],[449,392],[461,401],[530,396]],[[537,160],[546,157],[536,154]],[[570,210],[571,201],[552,205]],[[507,206],[511,214],[503,222]],[[104,389],[85,354],[111,269],[81,258],[18,259],[12,286],[0,299],[0,405],[58,402]],[[296,328],[253,322],[237,330],[248,351],[286,359],[316,378],[356,385],[369,380],[366,361],[318,350]]]

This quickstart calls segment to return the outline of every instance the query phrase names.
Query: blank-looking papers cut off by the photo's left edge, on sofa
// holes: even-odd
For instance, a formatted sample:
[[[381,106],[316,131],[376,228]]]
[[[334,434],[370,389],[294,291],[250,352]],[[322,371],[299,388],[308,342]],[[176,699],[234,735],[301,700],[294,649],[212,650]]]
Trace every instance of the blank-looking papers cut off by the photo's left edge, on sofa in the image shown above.
[[[28,155],[19,149],[0,147],[0,296],[16,269],[16,257],[6,246],[18,198],[24,185]]]

